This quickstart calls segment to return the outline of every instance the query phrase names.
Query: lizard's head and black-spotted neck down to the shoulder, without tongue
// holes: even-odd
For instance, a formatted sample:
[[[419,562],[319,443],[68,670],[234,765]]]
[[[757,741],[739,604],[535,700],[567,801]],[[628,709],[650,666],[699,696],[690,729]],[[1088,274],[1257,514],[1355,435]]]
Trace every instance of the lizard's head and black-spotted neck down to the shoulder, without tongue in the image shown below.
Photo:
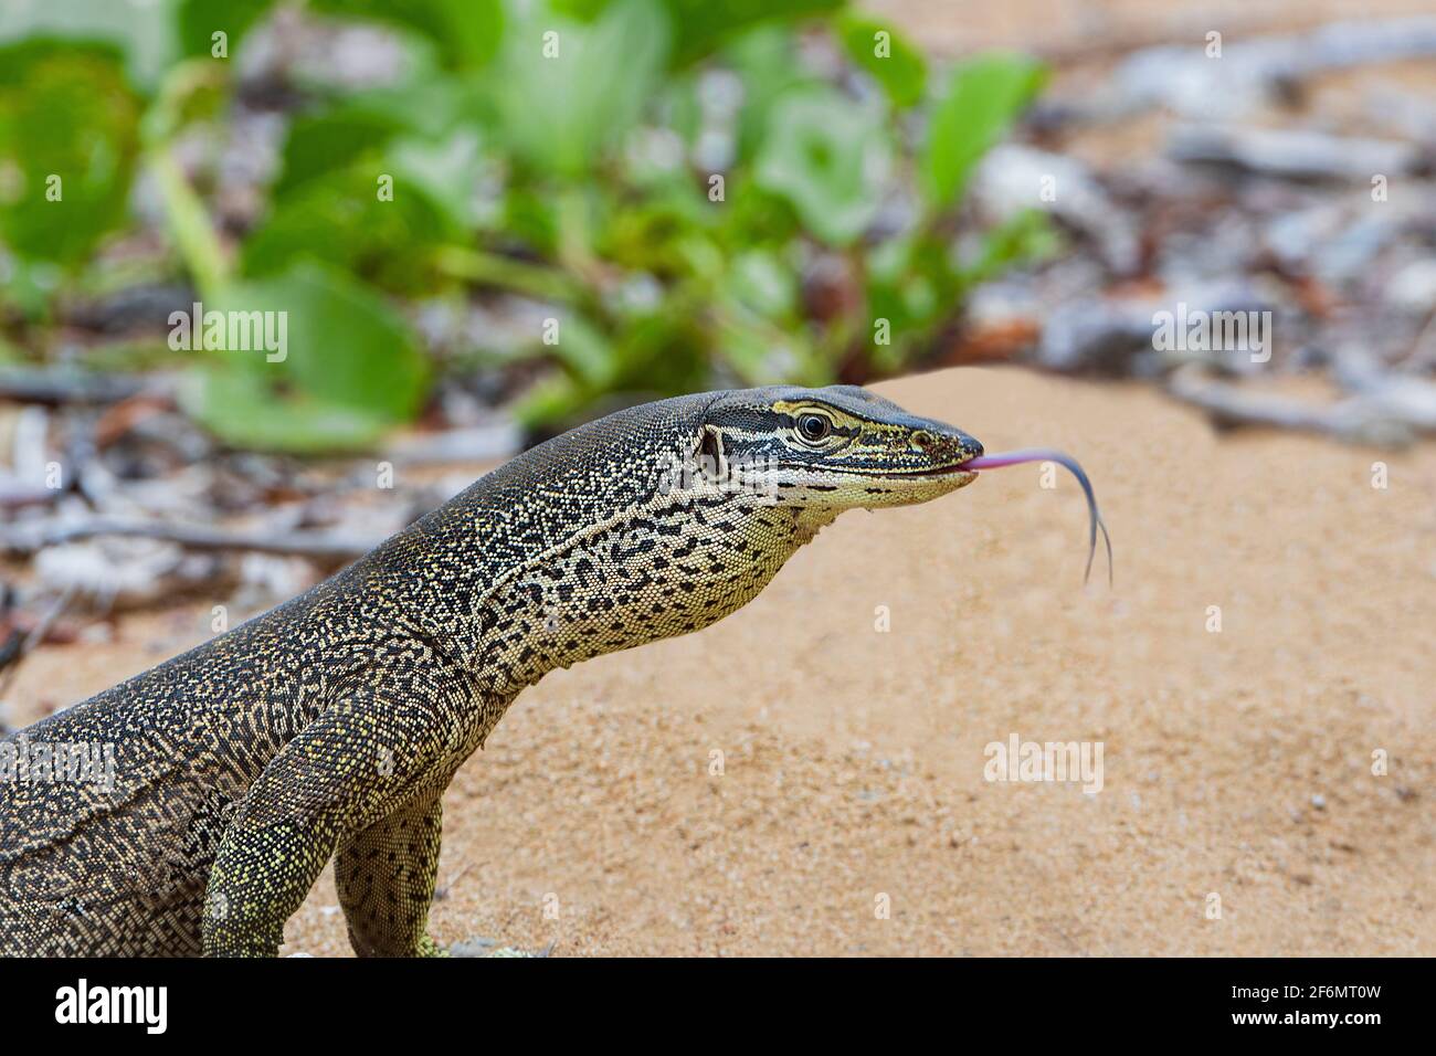
[[[482,532],[474,648],[510,693],[737,612],[844,510],[936,499],[981,454],[860,388],[702,392],[570,430],[404,539]]]

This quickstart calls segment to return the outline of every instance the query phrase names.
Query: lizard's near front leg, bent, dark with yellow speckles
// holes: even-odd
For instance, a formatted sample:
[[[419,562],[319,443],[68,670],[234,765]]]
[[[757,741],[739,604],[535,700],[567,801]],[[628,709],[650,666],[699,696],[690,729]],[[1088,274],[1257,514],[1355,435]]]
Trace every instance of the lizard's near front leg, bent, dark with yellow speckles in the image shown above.
[[[464,741],[432,661],[376,658],[372,682],[332,704],[250,787],[210,871],[204,951],[273,957],[346,833],[437,796]]]

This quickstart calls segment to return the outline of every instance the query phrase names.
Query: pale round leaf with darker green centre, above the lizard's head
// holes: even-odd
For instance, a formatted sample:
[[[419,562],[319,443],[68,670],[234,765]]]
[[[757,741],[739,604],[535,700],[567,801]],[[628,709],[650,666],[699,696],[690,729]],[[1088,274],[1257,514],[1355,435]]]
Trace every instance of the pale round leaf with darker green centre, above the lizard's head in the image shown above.
[[[823,241],[854,241],[877,213],[892,170],[880,118],[830,88],[801,88],[773,108],[754,170]]]

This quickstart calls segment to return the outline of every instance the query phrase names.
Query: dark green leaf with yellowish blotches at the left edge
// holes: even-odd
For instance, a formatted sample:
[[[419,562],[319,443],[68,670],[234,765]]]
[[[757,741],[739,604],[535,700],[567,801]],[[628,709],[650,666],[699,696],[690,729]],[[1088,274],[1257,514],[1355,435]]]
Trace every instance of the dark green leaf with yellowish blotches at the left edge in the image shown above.
[[[82,261],[126,217],[139,109],[113,49],[0,49],[0,238]]]

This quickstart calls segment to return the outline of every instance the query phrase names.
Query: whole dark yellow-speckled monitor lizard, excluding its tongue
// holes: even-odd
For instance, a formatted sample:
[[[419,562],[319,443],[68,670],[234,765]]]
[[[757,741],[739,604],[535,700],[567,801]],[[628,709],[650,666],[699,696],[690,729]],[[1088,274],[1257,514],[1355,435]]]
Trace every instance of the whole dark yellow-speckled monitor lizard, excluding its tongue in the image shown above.
[[[722,619],[843,510],[945,494],[976,454],[852,386],[679,397],[527,451],[0,744],[115,757],[113,787],[0,780],[0,954],[274,955],[330,858],[358,954],[442,953],[439,799],[521,690]]]

